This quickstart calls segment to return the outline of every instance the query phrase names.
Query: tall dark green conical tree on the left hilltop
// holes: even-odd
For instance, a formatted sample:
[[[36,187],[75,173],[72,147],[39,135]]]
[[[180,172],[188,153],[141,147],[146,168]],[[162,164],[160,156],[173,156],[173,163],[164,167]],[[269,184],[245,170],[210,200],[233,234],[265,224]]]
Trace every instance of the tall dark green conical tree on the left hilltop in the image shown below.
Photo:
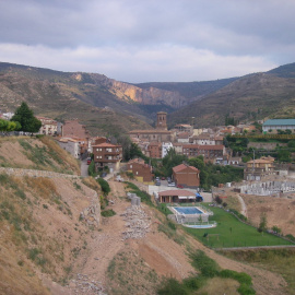
[[[42,127],[40,120],[34,117],[33,110],[30,109],[25,102],[16,109],[11,121],[19,122],[21,125],[19,130],[24,132],[38,132]]]

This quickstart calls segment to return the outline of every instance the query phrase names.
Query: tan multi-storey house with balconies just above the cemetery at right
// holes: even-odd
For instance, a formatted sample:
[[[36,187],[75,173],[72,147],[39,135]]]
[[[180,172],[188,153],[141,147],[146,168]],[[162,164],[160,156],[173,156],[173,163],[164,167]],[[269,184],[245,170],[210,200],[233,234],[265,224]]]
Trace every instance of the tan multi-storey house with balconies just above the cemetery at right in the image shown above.
[[[270,175],[275,175],[274,158],[271,156],[251,160],[246,163],[244,170],[245,180],[263,180]]]

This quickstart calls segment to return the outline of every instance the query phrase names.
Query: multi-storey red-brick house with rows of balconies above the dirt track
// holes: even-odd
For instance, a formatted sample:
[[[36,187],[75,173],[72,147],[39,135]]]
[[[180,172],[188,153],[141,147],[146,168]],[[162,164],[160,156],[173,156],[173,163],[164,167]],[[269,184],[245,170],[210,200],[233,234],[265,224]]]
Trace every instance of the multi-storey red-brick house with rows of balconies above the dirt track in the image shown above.
[[[108,142],[92,146],[94,163],[97,168],[108,166],[110,172],[118,169],[118,165],[122,160],[122,146]]]

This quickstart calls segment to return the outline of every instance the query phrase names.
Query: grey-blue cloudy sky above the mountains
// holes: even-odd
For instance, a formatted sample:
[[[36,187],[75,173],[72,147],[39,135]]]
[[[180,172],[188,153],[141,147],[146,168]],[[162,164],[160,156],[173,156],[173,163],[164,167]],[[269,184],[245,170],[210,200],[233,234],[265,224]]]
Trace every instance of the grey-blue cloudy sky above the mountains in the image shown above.
[[[293,0],[0,0],[0,61],[125,82],[295,62]]]

